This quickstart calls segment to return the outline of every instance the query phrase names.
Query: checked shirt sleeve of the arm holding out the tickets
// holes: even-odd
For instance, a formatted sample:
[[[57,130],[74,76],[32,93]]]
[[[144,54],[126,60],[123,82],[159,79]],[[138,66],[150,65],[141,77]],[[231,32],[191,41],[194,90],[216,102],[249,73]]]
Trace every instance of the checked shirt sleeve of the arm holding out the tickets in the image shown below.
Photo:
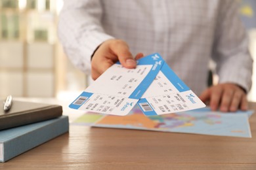
[[[68,58],[84,73],[91,71],[91,56],[104,41],[114,37],[100,24],[98,0],[65,0],[58,21],[58,37]]]

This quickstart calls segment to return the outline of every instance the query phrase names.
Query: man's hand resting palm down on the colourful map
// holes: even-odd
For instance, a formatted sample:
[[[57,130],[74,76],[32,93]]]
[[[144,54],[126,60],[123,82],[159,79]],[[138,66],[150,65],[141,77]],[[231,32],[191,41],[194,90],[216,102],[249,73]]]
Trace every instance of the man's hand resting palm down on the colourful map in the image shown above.
[[[200,99],[203,102],[209,101],[211,110],[223,112],[235,112],[238,109],[247,110],[248,103],[246,93],[240,86],[232,83],[217,84],[205,90]]]

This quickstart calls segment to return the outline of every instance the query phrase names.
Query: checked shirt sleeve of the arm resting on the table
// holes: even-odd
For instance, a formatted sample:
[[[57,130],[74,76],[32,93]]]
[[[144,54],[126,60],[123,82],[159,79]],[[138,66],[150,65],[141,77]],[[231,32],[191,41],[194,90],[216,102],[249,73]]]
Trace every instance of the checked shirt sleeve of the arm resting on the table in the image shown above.
[[[247,32],[238,15],[238,3],[221,2],[213,48],[219,83],[232,82],[249,92],[253,59],[249,54]]]

